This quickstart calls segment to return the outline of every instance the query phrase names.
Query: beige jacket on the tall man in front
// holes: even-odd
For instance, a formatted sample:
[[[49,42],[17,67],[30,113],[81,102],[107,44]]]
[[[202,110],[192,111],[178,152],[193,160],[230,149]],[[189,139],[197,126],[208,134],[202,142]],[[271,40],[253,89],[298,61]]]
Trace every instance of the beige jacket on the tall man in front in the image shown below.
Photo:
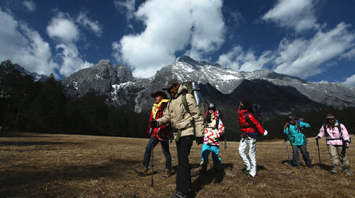
[[[175,98],[171,98],[168,106],[165,109],[165,115],[156,120],[159,126],[171,123],[173,131],[178,132],[180,129],[181,136],[195,135],[204,136],[204,120],[200,114],[199,107],[193,95],[187,93],[186,100],[190,109],[191,115],[185,110],[182,104],[182,93],[186,90],[185,86],[180,84],[178,93]],[[192,127],[191,121],[195,120],[195,129]],[[176,139],[178,141],[178,139]]]

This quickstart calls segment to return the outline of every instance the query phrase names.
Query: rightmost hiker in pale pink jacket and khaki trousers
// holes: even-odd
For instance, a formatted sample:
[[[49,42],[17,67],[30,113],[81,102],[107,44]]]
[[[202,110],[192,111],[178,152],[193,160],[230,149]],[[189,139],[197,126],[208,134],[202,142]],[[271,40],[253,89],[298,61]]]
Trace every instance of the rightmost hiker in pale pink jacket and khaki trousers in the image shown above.
[[[330,162],[332,170],[330,173],[338,174],[339,165],[342,168],[342,173],[351,175],[350,163],[346,159],[346,148],[349,148],[350,136],[344,124],[339,123],[334,115],[328,114],[326,123],[320,127],[320,133],[317,134],[315,140],[327,136],[327,146],[330,154]]]

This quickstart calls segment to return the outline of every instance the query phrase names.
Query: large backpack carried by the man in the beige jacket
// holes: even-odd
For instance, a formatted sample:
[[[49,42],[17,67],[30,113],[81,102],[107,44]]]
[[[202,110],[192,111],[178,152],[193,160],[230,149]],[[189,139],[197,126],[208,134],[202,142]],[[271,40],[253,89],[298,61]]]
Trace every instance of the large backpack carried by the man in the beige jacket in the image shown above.
[[[192,82],[192,81],[186,81],[181,83],[182,86],[185,86],[187,89],[187,93],[190,93],[191,95],[194,96],[196,103],[199,107],[200,114],[202,115],[203,119],[205,117],[204,115],[204,105],[202,103],[202,95],[200,91],[199,84],[197,82]],[[189,107],[187,105],[187,100],[186,100],[186,93],[182,94],[182,104],[185,107],[185,110],[191,115],[191,112],[189,110]]]

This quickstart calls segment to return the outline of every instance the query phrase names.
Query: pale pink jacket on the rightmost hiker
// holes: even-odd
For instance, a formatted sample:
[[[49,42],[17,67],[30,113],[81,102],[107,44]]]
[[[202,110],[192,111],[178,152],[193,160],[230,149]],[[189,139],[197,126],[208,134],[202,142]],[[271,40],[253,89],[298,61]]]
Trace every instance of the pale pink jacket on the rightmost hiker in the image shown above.
[[[328,145],[343,145],[343,141],[340,139],[338,124],[339,124],[339,122],[335,123],[334,129],[329,127],[329,124],[326,124],[327,134],[325,134],[324,125],[322,125],[322,127],[320,127],[320,133],[317,136],[320,136],[320,137],[327,136],[327,144]],[[346,130],[344,124],[340,124],[340,128],[342,129],[343,140],[349,141],[349,133]],[[349,146],[349,144],[348,144],[348,146]]]

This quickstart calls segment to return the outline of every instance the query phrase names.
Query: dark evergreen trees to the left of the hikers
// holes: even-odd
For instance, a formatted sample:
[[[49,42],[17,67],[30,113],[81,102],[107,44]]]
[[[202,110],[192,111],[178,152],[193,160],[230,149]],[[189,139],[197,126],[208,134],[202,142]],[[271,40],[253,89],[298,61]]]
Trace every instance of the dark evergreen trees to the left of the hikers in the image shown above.
[[[69,98],[53,74],[35,81],[6,60],[1,62],[0,83],[1,132],[147,136],[148,113],[108,105],[94,91]]]

